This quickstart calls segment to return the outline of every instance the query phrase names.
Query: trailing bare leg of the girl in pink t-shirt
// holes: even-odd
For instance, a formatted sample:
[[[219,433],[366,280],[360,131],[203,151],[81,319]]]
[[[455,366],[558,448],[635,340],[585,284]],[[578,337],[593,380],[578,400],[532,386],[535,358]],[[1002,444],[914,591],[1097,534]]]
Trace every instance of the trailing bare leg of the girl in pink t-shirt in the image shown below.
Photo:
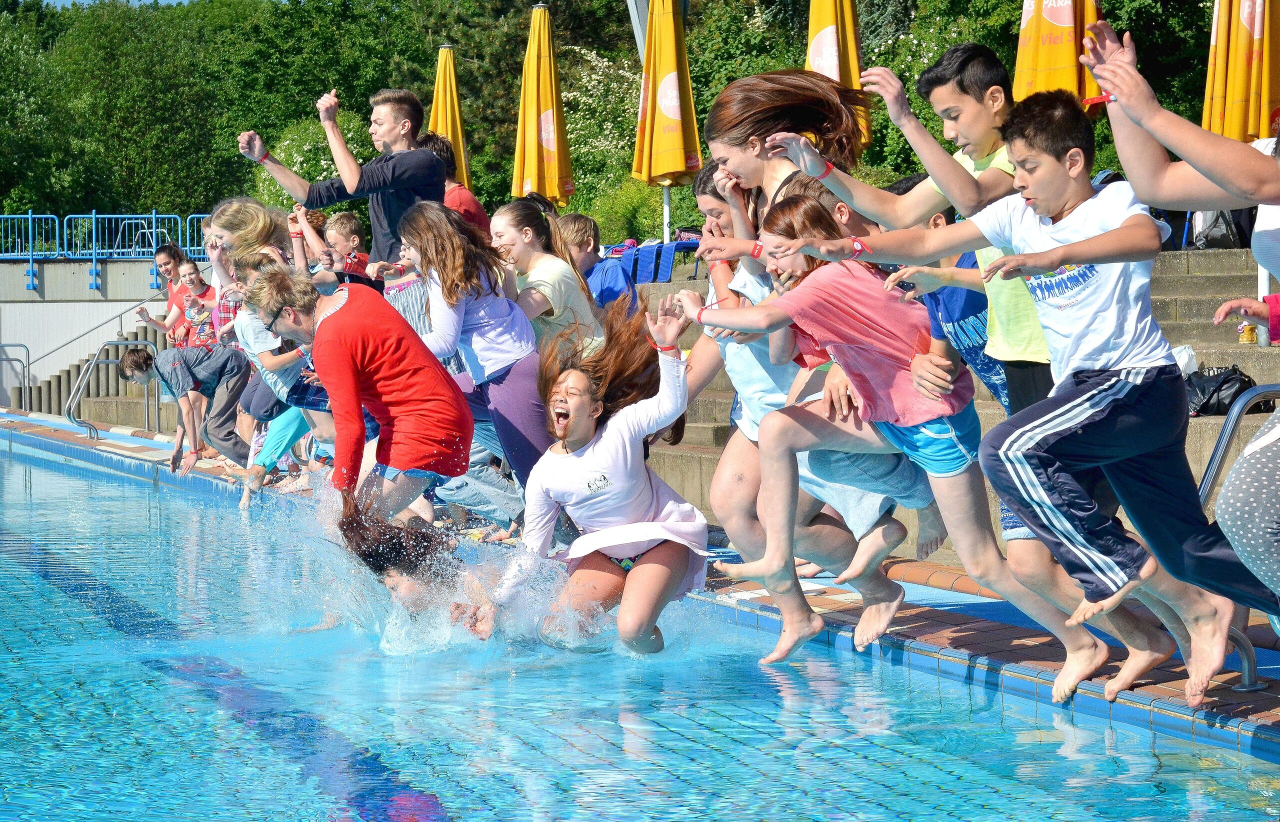
[[[1106,663],[1107,647],[1083,627],[1069,626],[1066,613],[1014,577],[991,530],[987,485],[977,465],[957,476],[929,479],[951,533],[951,544],[969,576],[1043,625],[1066,648],[1066,662],[1053,680],[1053,702],[1064,702],[1075,693],[1076,685]]]

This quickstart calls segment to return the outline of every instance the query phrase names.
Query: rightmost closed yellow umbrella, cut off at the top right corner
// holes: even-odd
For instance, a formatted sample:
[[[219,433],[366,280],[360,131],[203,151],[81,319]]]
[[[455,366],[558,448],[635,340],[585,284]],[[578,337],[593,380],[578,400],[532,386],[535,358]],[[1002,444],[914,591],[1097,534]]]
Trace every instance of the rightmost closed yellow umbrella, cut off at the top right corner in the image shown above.
[[[1280,0],[1215,0],[1201,125],[1231,140],[1271,137],[1280,117]]]

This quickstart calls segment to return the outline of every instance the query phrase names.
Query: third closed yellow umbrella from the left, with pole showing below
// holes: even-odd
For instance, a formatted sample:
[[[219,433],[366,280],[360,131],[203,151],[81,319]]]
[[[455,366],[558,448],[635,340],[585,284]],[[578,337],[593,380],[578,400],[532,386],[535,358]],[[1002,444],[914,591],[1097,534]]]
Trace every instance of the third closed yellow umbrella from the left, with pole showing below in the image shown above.
[[[703,154],[678,0],[650,0],[631,177],[663,187],[663,242],[671,242],[671,187],[690,184],[700,168]]]

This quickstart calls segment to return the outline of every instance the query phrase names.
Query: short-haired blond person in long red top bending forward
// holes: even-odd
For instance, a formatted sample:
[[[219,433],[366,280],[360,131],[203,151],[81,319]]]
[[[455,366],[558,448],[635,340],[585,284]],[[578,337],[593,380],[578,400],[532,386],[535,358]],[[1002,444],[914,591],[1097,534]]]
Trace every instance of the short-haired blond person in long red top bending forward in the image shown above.
[[[466,472],[474,426],[466,399],[376,291],[348,283],[321,296],[306,274],[264,271],[246,300],[266,330],[311,346],[337,429],[333,485],[343,494],[344,513],[362,510],[367,519],[390,522],[433,479]],[[378,465],[362,484],[361,407],[381,429]]]

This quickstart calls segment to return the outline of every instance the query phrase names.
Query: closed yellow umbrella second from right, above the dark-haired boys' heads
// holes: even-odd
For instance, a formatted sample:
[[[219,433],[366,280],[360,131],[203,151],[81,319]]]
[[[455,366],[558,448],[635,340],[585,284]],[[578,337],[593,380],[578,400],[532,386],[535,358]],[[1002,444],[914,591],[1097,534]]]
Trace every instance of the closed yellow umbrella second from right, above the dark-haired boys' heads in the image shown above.
[[[1057,88],[1078,97],[1097,96],[1098,85],[1080,65],[1084,27],[1097,20],[1093,0],[1023,0],[1014,100]]]

